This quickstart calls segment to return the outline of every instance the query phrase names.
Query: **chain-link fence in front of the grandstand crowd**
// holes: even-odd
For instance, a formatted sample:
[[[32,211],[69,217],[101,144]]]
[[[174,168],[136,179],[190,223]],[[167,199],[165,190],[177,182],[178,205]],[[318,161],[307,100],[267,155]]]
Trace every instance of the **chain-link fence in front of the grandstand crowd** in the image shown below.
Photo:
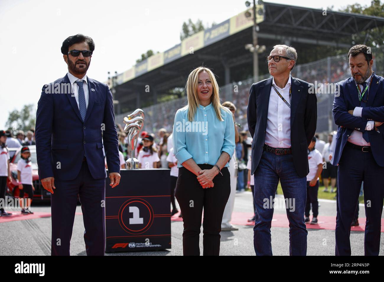
[[[384,74],[384,52],[383,48],[372,49],[374,57],[373,70],[377,75]],[[333,121],[332,104],[334,98],[334,84],[343,81],[351,76],[347,55],[338,55],[327,57],[315,62],[300,64],[295,66],[292,76],[314,84],[317,89],[317,128],[316,132],[330,132],[337,127]],[[269,74],[259,77],[259,81],[270,78]],[[236,122],[242,125],[243,130],[248,130],[247,126],[247,106],[249,89],[252,85],[252,79],[239,81],[237,83],[227,84],[220,87],[220,99],[232,101],[237,107]],[[161,128],[172,131],[175,113],[177,109],[187,104],[187,97],[174,99],[169,102],[156,104],[143,108],[145,114],[144,130],[150,133],[156,133]],[[116,115],[116,123],[122,124],[123,118],[130,114]]]

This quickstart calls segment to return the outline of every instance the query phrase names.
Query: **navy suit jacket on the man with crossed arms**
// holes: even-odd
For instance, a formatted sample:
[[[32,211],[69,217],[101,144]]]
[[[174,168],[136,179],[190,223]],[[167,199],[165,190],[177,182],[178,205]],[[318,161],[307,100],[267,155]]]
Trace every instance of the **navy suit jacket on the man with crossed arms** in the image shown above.
[[[354,117],[348,113],[355,107],[360,107],[358,90],[353,78],[348,78],[337,84],[336,94],[333,101],[333,117],[338,125],[336,143],[332,155],[331,164],[339,163],[344,145],[353,130],[364,132],[367,122],[374,120],[384,122],[384,78],[373,75],[372,84],[369,88],[368,105],[361,112],[361,117]],[[376,130],[368,131],[371,150],[376,163],[384,167],[384,125]],[[340,138],[341,137],[341,138]]]

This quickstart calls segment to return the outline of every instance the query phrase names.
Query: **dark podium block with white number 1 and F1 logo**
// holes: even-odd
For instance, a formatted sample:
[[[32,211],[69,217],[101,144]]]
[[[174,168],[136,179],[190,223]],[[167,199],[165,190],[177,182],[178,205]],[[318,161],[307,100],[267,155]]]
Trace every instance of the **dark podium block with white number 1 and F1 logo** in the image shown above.
[[[108,175],[108,170],[107,170]],[[170,249],[170,170],[120,170],[106,178],[106,252]]]

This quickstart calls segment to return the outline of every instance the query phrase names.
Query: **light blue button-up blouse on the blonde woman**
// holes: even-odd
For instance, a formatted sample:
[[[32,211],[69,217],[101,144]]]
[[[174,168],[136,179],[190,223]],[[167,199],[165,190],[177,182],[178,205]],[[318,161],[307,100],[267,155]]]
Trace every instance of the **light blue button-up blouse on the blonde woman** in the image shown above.
[[[190,158],[197,164],[215,165],[222,152],[227,152],[232,158],[235,125],[229,109],[221,112],[223,121],[217,119],[212,102],[206,107],[199,105],[190,122],[187,107],[177,110],[173,125],[173,148],[178,168]],[[225,167],[229,167],[229,163]]]

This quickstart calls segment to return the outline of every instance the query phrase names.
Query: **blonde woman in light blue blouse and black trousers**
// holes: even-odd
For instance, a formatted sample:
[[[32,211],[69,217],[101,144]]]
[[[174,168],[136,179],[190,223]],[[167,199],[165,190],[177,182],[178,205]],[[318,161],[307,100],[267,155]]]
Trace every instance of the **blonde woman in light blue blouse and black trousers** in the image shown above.
[[[218,85],[208,68],[194,69],[185,87],[188,104],[177,110],[173,147],[178,160],[175,197],[183,214],[183,254],[200,255],[203,219],[203,255],[219,255],[220,230],[230,195],[228,161],[235,150],[232,113],[220,104]]]

